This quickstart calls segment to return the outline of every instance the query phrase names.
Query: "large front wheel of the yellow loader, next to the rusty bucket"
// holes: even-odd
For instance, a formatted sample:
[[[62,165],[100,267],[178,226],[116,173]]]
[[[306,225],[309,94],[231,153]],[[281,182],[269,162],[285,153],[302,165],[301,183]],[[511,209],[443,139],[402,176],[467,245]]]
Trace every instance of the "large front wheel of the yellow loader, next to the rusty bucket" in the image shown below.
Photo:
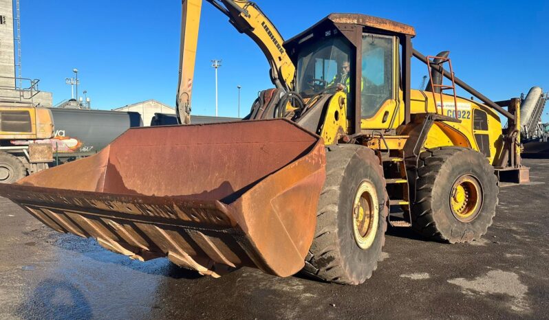
[[[338,284],[365,282],[385,244],[388,212],[383,168],[375,153],[364,146],[327,146],[326,181],[302,273]]]

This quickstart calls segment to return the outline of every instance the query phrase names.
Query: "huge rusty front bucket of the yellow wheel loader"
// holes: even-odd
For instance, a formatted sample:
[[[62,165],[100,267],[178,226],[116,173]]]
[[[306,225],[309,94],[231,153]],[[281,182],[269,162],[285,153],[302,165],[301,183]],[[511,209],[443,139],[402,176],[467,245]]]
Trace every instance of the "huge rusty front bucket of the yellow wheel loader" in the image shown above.
[[[324,179],[322,139],[275,119],[132,128],[97,155],[0,185],[0,196],[131,258],[288,276],[312,243]]]

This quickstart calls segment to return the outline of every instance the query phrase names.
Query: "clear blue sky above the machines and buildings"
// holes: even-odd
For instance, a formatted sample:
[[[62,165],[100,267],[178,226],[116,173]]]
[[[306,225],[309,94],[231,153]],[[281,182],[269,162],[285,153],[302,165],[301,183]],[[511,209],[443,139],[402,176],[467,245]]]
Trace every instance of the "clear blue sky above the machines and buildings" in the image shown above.
[[[549,1],[258,1],[285,38],[330,12],[363,13],[416,27],[413,45],[424,54],[448,49],[456,76],[492,100],[506,100],[532,86],[549,91]],[[21,0],[23,77],[41,79],[54,103],[70,98],[65,78],[80,70],[80,94],[92,107],[111,109],[142,100],[175,104],[179,61],[180,1]],[[209,3],[202,23],[193,88],[193,113],[241,115],[257,92],[272,87],[259,48],[239,34]],[[419,87],[425,67],[412,67]],[[544,120],[549,121],[549,108]]]

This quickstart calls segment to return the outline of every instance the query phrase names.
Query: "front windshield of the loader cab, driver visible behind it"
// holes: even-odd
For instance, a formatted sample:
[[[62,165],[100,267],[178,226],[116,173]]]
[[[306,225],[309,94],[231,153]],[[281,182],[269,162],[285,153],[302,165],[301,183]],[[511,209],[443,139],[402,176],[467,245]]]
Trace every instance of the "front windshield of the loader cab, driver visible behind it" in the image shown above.
[[[351,48],[342,36],[331,36],[305,45],[297,60],[297,91],[311,98],[327,88],[348,92]]]

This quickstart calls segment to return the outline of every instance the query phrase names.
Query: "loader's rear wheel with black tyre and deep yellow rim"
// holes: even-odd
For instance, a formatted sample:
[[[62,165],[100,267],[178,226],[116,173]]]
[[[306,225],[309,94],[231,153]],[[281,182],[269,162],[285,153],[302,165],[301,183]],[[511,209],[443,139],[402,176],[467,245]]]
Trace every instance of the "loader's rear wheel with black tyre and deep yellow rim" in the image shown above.
[[[498,193],[494,168],[480,152],[429,149],[420,155],[412,228],[438,241],[478,240],[492,225]]]

